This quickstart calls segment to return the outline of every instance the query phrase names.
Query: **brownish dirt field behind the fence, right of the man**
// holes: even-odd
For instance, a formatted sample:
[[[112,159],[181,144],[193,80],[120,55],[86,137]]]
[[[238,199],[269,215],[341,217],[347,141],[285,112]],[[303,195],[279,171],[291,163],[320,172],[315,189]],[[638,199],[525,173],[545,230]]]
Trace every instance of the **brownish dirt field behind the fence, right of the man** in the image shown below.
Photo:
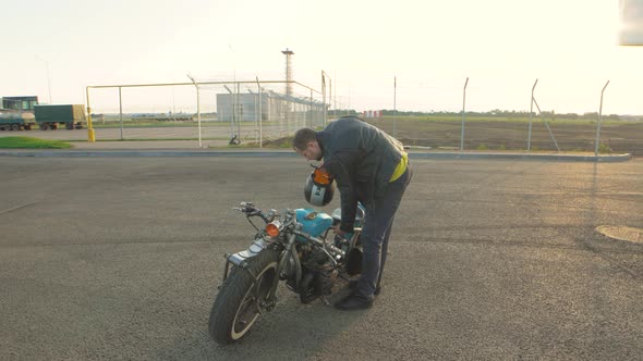
[[[367,119],[368,123],[393,134],[393,121]],[[550,122],[549,130],[541,120],[532,123],[532,150],[594,151],[596,124],[590,122]],[[462,127],[460,122],[398,120],[395,136],[407,146],[460,149]],[[551,136],[551,135],[553,136]],[[464,125],[464,149],[469,150],[525,150],[529,123],[471,121]],[[600,126],[600,149],[615,153],[629,152],[643,155],[643,123]]]

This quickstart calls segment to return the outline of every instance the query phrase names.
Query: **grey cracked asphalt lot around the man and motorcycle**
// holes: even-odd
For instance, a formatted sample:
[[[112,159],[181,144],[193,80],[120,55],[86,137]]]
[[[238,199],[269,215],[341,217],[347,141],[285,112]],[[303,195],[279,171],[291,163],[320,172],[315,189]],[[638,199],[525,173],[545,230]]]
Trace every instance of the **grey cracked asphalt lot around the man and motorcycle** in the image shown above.
[[[595,228],[643,226],[642,159],[412,166],[373,309],[281,286],[221,347],[223,253],[253,235],[232,208],[305,206],[303,159],[0,157],[0,359],[641,359],[643,245]]]

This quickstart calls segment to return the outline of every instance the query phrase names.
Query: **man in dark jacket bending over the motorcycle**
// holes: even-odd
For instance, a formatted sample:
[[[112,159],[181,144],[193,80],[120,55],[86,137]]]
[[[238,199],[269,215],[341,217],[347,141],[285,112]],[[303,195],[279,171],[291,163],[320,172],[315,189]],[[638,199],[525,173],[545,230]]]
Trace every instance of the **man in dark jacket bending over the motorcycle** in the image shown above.
[[[411,180],[407,152],[397,139],[354,116],[339,119],[322,132],[299,129],[292,145],[306,160],[324,160],[324,167],[335,176],[341,196],[338,235],[353,232],[357,201],[366,209],[362,276],[336,308],[369,308],[381,288],[393,217]]]

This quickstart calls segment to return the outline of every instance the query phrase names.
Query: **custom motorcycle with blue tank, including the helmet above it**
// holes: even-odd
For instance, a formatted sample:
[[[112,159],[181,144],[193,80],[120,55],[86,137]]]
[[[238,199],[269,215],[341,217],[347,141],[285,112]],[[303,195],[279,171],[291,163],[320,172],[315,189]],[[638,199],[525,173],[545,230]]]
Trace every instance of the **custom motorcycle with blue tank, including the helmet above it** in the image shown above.
[[[320,167],[306,179],[304,195],[313,206],[332,199],[332,177]],[[277,303],[280,283],[299,294],[302,303],[322,299],[326,303],[338,279],[361,273],[361,227],[365,212],[359,206],[355,231],[344,237],[329,237],[341,221],[341,210],[330,215],[311,208],[262,210],[241,202],[241,211],[256,228],[248,249],[226,254],[223,283],[208,321],[210,336],[219,344],[241,339],[265,312]],[[253,219],[260,219],[257,227]],[[332,233],[330,233],[332,234]]]

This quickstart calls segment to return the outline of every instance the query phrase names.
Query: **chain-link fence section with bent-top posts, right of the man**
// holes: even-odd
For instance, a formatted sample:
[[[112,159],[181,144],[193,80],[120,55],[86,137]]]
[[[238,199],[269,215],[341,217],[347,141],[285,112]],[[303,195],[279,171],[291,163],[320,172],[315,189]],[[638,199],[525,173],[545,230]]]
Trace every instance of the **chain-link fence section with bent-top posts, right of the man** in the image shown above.
[[[432,149],[643,154],[643,141],[640,140],[643,139],[643,119],[603,113],[602,90],[605,91],[608,84],[603,89],[596,88],[597,112],[575,114],[542,108],[546,100],[539,102],[537,80],[530,85],[529,111],[473,112],[468,109],[470,104],[481,108],[478,98],[484,89],[480,86],[471,89],[469,79],[449,88],[396,79],[391,97],[393,109],[365,112],[365,120],[404,145]],[[530,105],[526,85],[523,96],[517,99],[524,97],[524,103]],[[440,111],[442,108],[451,110]]]

